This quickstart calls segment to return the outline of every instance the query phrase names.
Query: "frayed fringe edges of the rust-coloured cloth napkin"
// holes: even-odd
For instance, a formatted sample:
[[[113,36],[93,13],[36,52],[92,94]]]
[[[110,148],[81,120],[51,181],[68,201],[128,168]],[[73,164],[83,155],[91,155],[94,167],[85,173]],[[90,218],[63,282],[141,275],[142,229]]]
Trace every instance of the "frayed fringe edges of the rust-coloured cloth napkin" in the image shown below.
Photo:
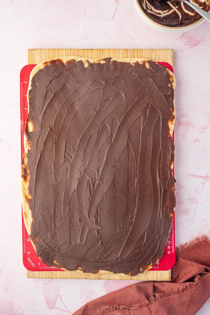
[[[190,246],[195,245],[195,244],[200,243],[200,242],[203,242],[203,241],[208,242],[209,240],[210,240],[210,238],[208,238],[207,236],[201,236],[201,237],[195,238],[194,240],[189,241],[188,243],[184,243],[184,244],[180,245],[179,247],[177,247],[176,248],[176,255],[182,255],[182,252],[184,249],[189,248]],[[208,272],[202,272],[201,274],[195,276],[193,283],[185,284],[180,289],[170,290],[166,293],[155,294],[154,297],[148,298],[144,303],[139,303],[139,304],[136,304],[135,306],[118,305],[118,304],[115,304],[113,306],[105,306],[105,307],[101,307],[100,309],[98,309],[95,312],[95,315],[105,315],[105,314],[109,314],[109,313],[115,312],[115,311],[140,310],[141,308],[148,307],[149,305],[151,305],[157,301],[161,301],[165,298],[183,293],[187,290],[190,290],[191,288],[198,286],[200,284],[201,278],[203,276],[205,276],[207,273]]]

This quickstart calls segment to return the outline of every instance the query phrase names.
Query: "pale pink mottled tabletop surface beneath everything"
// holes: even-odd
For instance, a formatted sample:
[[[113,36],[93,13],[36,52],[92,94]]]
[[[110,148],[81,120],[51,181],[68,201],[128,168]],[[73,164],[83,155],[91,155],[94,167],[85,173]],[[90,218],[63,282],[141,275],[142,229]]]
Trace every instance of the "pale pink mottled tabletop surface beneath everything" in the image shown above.
[[[61,4],[62,3],[62,4]],[[0,314],[71,314],[134,281],[27,279],[22,265],[19,73],[28,48],[172,48],[176,88],[176,243],[209,234],[209,34],[147,26],[133,0],[0,1]],[[209,301],[198,314],[210,313]]]

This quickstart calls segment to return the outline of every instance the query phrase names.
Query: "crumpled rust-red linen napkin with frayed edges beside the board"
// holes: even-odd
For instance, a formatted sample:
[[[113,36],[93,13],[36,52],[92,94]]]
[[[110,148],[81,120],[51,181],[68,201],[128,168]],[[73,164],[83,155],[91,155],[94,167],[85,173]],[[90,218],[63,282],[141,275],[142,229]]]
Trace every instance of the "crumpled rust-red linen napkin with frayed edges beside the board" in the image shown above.
[[[210,297],[210,240],[176,250],[171,282],[139,282],[82,306],[74,315],[193,315]]]

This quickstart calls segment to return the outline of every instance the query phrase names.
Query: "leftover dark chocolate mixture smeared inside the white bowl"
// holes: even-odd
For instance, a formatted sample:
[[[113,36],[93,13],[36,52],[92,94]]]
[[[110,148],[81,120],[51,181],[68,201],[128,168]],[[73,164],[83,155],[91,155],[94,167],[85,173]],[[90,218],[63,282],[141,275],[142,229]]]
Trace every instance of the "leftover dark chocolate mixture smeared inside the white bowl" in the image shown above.
[[[202,17],[182,1],[138,0],[142,10],[153,21],[171,27],[188,26]],[[210,0],[189,0],[199,8],[209,11]]]

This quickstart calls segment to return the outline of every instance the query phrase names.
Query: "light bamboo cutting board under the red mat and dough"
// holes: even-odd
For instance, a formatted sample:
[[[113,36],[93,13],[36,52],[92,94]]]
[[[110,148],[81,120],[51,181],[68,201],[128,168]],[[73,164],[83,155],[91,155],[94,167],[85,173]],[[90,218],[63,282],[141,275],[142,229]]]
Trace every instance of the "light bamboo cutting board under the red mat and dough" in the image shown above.
[[[168,62],[173,66],[172,49],[28,49],[28,64],[38,64],[42,61],[60,56],[80,56],[93,59],[106,57],[115,58],[145,58],[153,61]],[[171,270],[151,270],[137,276],[122,276],[114,273],[83,273],[74,271],[29,271],[27,278],[63,278],[63,279],[105,279],[105,280],[157,280],[170,281]]]

